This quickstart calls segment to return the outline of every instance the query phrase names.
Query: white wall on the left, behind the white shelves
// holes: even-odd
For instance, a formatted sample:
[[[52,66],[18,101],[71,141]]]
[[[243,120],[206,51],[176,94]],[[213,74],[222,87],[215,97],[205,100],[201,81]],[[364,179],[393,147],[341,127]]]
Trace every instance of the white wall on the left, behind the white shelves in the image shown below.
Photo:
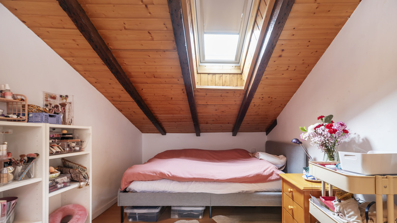
[[[74,125],[93,130],[93,217],[116,202],[123,172],[141,162],[141,133],[0,4],[0,83],[43,106],[43,91],[74,97]]]

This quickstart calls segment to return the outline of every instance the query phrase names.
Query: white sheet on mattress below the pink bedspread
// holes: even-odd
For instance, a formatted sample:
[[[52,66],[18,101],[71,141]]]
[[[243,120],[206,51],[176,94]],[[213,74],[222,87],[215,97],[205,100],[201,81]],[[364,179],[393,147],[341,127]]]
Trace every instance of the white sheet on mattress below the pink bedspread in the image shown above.
[[[204,192],[204,193],[237,193],[237,192],[280,192],[281,180],[266,183],[228,183],[174,181],[168,179],[151,181],[133,181],[126,189],[132,192]]]

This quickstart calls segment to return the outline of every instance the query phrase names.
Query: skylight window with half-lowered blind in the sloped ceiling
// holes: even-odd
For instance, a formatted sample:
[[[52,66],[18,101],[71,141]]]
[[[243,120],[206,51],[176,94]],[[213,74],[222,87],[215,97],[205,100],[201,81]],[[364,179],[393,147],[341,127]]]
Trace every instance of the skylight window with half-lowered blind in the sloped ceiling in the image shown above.
[[[239,65],[252,0],[195,0],[200,65]]]

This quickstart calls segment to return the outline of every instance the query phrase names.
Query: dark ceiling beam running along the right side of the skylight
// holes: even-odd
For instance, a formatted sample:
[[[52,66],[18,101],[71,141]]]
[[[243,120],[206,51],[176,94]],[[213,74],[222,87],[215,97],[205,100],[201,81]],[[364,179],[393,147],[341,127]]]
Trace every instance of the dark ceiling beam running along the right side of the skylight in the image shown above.
[[[233,127],[233,136],[237,135],[241,124],[243,123],[249,105],[251,104],[253,96],[257,92],[262,76],[270,61],[274,47],[276,46],[281,31],[286,24],[294,2],[295,0],[276,0],[274,3],[272,14],[270,15],[269,25],[267,26],[266,35],[263,38],[258,59],[255,64],[255,68],[252,71],[250,83],[248,85],[247,91],[245,92],[236,122]]]

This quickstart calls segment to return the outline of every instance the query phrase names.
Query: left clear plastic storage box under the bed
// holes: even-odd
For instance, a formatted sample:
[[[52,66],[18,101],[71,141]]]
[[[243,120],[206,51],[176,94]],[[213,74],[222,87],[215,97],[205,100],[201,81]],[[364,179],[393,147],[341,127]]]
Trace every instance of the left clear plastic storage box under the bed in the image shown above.
[[[130,206],[124,208],[128,221],[156,222],[160,217],[162,206]]]

